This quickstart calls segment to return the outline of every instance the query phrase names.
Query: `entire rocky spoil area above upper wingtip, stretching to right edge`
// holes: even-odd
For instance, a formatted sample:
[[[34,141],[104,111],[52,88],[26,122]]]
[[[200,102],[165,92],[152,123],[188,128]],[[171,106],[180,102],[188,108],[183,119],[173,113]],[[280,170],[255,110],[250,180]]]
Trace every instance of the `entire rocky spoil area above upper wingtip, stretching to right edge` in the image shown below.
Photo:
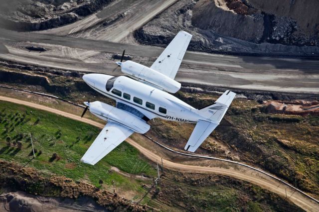
[[[318,56],[315,8],[318,1],[181,0],[135,36],[143,43],[166,45],[185,30],[193,34],[189,49],[197,51]]]

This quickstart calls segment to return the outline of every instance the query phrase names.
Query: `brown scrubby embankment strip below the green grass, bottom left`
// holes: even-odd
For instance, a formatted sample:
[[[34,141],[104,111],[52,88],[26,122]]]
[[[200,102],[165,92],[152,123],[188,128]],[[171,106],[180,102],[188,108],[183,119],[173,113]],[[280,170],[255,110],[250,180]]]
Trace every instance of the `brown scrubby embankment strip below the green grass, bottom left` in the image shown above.
[[[116,193],[61,176],[44,177],[33,168],[23,168],[15,163],[0,160],[0,185],[15,191],[29,194],[77,199],[87,196],[110,211],[146,211],[139,206],[119,197]]]

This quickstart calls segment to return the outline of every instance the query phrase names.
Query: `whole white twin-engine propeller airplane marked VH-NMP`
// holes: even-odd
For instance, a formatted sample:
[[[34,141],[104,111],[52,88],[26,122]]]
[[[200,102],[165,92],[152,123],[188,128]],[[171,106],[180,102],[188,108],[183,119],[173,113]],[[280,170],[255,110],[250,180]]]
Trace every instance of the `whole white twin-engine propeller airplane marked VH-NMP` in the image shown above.
[[[98,101],[84,103],[82,116],[89,108],[91,113],[108,122],[81,161],[96,164],[134,132],[146,133],[150,129],[147,122],[153,118],[197,123],[185,146],[185,150],[191,152],[218,126],[235,93],[226,91],[215,103],[202,109],[195,109],[169,94],[180,89],[180,83],[174,78],[191,37],[187,32],[178,32],[151,68],[133,61],[122,62],[123,52],[121,62],[116,63],[131,78],[105,74],[83,76],[92,89],[117,104],[114,107]]]

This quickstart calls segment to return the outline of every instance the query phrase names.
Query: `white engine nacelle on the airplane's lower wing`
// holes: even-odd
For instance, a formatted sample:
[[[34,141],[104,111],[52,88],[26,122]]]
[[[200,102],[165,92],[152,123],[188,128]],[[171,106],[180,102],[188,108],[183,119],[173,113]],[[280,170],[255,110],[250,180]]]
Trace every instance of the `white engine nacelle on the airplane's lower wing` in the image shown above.
[[[144,134],[150,129],[149,124],[125,110],[101,103],[99,101],[90,103],[88,106],[90,108],[90,112],[99,118],[122,124],[128,128],[131,128],[135,132]]]

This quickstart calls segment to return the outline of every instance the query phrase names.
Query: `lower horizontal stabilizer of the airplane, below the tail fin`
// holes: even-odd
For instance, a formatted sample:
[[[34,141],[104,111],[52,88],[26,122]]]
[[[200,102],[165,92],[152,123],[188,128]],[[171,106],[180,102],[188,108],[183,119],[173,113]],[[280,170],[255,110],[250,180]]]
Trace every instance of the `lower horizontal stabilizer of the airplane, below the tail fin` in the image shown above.
[[[195,152],[196,149],[204,142],[208,135],[218,126],[216,123],[198,120],[193,132],[191,133],[185,150]]]

